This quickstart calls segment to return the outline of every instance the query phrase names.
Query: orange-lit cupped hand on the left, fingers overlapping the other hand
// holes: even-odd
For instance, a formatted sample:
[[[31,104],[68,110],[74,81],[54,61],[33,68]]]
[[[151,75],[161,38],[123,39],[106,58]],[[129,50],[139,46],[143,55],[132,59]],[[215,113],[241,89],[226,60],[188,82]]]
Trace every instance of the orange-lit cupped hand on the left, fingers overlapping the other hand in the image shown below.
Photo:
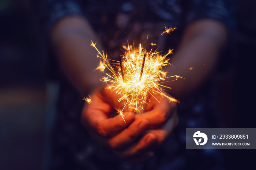
[[[91,97],[93,102],[83,108],[82,124],[94,140],[130,162],[144,162],[153,156],[148,148],[157,141],[157,136],[151,132],[144,134],[150,121],[132,112],[124,112],[124,119],[114,113],[119,96],[110,90],[95,90]]]

